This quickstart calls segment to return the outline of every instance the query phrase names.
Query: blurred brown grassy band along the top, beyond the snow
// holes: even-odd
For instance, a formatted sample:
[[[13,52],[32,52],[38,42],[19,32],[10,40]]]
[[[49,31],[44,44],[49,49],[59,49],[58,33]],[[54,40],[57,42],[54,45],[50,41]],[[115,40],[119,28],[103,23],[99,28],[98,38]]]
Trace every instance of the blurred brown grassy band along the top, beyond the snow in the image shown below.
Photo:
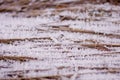
[[[39,16],[43,10],[74,7],[87,3],[119,5],[120,0],[0,0],[0,13],[35,17]]]

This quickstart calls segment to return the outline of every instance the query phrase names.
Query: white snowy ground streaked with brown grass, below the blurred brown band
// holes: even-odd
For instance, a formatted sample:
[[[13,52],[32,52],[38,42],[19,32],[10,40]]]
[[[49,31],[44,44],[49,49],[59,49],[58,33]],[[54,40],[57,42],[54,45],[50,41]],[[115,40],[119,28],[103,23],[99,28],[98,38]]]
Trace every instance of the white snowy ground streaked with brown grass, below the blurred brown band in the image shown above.
[[[119,6],[45,11],[31,18],[0,14],[1,80],[120,80]]]

